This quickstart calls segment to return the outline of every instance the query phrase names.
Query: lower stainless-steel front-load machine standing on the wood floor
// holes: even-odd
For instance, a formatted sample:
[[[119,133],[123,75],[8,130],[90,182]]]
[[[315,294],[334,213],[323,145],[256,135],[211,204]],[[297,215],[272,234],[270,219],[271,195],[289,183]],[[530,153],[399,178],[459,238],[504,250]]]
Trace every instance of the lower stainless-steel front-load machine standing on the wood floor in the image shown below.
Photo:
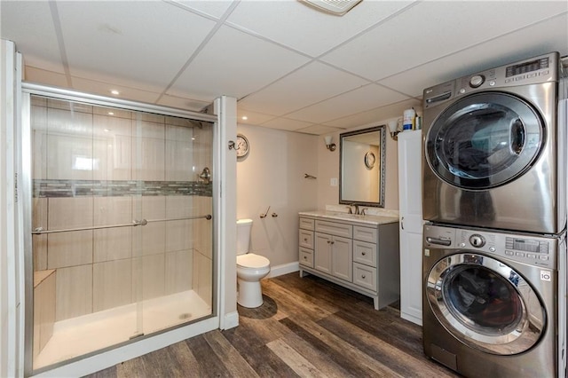
[[[425,354],[467,377],[564,377],[565,235],[423,231]]]

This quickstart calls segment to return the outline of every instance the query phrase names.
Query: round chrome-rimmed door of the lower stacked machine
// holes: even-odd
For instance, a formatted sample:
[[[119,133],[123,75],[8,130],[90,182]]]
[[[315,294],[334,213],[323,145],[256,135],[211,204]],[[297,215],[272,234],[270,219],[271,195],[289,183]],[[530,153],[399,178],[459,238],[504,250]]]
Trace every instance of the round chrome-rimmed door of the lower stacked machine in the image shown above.
[[[492,257],[461,253],[438,261],[426,296],[455,338],[486,353],[522,353],[546,329],[546,311],[533,287]]]

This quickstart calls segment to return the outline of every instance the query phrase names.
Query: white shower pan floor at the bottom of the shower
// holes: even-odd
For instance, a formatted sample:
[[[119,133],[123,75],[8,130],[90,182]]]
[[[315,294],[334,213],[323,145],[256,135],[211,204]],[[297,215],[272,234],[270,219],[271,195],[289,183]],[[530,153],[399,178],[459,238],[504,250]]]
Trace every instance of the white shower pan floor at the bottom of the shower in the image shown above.
[[[56,322],[50,341],[34,359],[34,369],[211,314],[211,307],[193,290],[188,290],[143,301],[142,327],[137,329],[139,306],[130,303]]]

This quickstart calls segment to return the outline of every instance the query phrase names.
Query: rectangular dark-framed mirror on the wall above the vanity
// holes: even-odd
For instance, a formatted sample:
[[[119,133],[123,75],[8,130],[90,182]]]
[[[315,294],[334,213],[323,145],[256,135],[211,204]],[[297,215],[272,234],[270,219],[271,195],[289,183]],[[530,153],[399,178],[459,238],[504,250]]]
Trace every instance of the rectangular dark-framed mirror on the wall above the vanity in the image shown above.
[[[339,203],[384,207],[385,126],[339,135]]]

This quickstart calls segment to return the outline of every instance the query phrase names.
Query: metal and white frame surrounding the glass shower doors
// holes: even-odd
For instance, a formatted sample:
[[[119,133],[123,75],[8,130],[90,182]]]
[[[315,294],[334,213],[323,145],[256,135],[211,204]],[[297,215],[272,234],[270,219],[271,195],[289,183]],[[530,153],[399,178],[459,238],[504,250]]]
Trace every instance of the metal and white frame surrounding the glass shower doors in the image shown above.
[[[211,315],[209,317],[205,317],[204,319],[198,319],[195,323],[190,324],[181,324],[174,327],[169,327],[162,331],[155,332],[153,334],[143,336],[137,339],[134,339],[130,342],[119,343],[103,350],[96,350],[94,352],[88,353],[83,356],[79,356],[77,358],[71,358],[66,360],[60,364],[56,364],[54,366],[47,366],[46,368],[37,369],[34,371],[33,369],[33,337],[34,337],[34,282],[33,282],[33,275],[34,275],[34,267],[33,267],[33,246],[32,246],[32,150],[31,150],[31,96],[32,95],[39,95],[45,96],[50,98],[58,98],[62,100],[68,101],[80,101],[83,103],[88,103],[93,106],[110,106],[110,107],[117,107],[123,108],[130,111],[136,112],[145,112],[145,113],[156,113],[156,114],[163,114],[169,115],[174,117],[182,117],[182,118],[190,118],[196,121],[204,121],[204,122],[212,122],[213,123],[213,140],[211,144],[212,148],[212,159],[213,159],[213,167],[217,170],[217,175],[214,176],[213,180],[213,198],[212,198],[212,213],[213,213],[213,221],[211,224],[212,227],[212,306],[211,306]],[[110,98],[104,97],[99,95],[92,95],[80,91],[70,91],[67,89],[61,89],[41,84],[35,83],[22,83],[21,86],[21,140],[20,140],[20,157],[22,159],[22,169],[19,177],[19,185],[20,190],[22,193],[22,210],[23,210],[23,226],[24,226],[24,240],[23,240],[23,249],[24,249],[24,327],[23,327],[23,343],[24,343],[24,374],[25,376],[30,376],[32,374],[42,373],[43,371],[49,371],[51,369],[57,369],[59,366],[68,366],[73,364],[76,361],[83,360],[85,358],[90,358],[96,356],[100,353],[103,353],[107,350],[114,350],[121,348],[124,345],[130,345],[133,343],[140,343],[141,341],[148,341],[150,339],[160,338],[159,343],[164,343],[164,340],[167,339],[167,334],[172,329],[177,328],[187,328],[192,327],[195,325],[203,324],[203,330],[194,332],[190,329],[185,332],[186,337],[190,337],[191,335],[199,335],[202,332],[206,332],[210,329],[217,329],[220,324],[220,316],[219,316],[219,307],[223,306],[222,297],[224,296],[222,291],[222,286],[219,285],[219,269],[220,269],[220,260],[222,258],[218,255],[218,248],[217,240],[218,240],[218,230],[219,228],[223,228],[222,226],[222,213],[223,211],[219,211],[219,185],[216,185],[219,178],[221,176],[220,172],[220,164],[219,164],[219,135],[220,135],[220,120],[217,114],[203,114],[197,113],[192,111],[185,111],[183,109],[172,108],[168,106],[157,106],[153,104],[146,104],[137,101],[130,101],[124,100],[120,98]],[[135,353],[138,355],[143,354],[143,352],[136,351],[138,348],[133,348],[133,351],[130,353]]]

